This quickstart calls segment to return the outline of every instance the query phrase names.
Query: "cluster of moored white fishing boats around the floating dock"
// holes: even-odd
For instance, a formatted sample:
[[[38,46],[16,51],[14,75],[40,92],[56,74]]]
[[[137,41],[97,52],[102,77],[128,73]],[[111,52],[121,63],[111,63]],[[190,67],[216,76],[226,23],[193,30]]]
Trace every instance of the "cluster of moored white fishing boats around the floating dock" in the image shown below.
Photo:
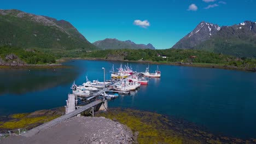
[[[107,100],[116,99],[122,95],[128,95],[131,91],[139,89],[141,85],[148,85],[147,77],[160,77],[161,72],[159,68],[155,70],[155,73],[149,73],[149,66],[146,68],[145,73],[137,73],[133,71],[131,66],[125,65],[125,68],[120,67],[118,72],[114,72],[114,64],[112,67],[111,79],[105,80],[105,68],[104,70],[104,81],[93,80],[92,82],[86,77],[86,82],[82,85],[77,86],[75,82],[71,86],[73,94],[68,94],[67,104],[65,106],[66,114],[73,112],[84,105],[92,103],[92,101],[102,101],[100,110],[107,110]],[[119,79],[118,79],[119,77]],[[96,110],[96,109],[94,109]]]

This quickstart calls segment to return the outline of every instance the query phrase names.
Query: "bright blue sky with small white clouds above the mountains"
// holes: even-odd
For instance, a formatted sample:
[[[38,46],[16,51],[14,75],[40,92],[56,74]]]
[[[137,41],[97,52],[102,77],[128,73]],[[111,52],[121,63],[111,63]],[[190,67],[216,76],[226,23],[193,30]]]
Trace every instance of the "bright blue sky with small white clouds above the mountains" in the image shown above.
[[[255,0],[1,0],[0,3],[0,9],[19,9],[69,21],[91,43],[117,38],[150,43],[156,49],[172,47],[201,21],[219,26],[256,21],[255,8]]]

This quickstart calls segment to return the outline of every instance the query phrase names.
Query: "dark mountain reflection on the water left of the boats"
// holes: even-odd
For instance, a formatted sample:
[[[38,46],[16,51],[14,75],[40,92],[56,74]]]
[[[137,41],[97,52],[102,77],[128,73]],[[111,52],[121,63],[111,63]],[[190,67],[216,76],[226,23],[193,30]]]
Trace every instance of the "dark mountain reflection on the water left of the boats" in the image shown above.
[[[22,95],[27,92],[70,83],[78,75],[70,69],[3,69],[0,70],[0,96],[4,94]]]

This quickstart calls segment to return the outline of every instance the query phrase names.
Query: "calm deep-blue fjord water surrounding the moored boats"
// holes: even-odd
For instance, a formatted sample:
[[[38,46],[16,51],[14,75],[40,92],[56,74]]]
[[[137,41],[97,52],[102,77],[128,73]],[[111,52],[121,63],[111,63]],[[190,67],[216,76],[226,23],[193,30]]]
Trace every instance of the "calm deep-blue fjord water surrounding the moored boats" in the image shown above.
[[[71,68],[0,69],[0,116],[52,109],[66,104],[71,85],[110,78],[112,64],[122,62],[75,60]],[[123,62],[123,65],[126,64]],[[144,71],[148,64],[130,63]],[[130,65],[129,64],[129,65]],[[109,107],[128,107],[184,118],[214,134],[256,137],[256,73],[213,68],[159,65],[160,79],[149,79],[131,95],[109,101]],[[153,72],[156,65],[150,65]]]

